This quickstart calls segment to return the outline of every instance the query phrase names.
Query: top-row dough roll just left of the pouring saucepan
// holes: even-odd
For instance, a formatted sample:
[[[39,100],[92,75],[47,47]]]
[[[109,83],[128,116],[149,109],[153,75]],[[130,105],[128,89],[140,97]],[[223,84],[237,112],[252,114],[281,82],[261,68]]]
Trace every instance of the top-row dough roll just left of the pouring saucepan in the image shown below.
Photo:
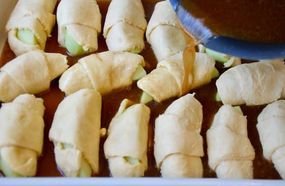
[[[146,39],[157,61],[184,51],[186,40],[169,0],[156,3],[146,28]]]

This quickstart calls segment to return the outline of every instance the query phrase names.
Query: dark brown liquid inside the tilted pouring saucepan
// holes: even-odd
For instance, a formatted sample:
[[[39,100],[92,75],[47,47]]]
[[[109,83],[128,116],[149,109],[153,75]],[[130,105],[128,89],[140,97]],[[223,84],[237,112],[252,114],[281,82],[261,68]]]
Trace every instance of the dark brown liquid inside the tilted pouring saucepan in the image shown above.
[[[195,25],[190,30],[196,36],[208,29],[212,36],[285,43],[284,0],[180,0],[180,5],[193,17],[187,25]]]

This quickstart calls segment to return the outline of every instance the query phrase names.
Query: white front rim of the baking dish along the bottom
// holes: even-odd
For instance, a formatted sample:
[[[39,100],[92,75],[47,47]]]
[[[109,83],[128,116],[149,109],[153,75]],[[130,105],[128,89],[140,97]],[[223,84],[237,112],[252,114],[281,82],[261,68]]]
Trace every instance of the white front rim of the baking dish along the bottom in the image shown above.
[[[164,178],[0,178],[1,186],[285,186],[285,181]]]

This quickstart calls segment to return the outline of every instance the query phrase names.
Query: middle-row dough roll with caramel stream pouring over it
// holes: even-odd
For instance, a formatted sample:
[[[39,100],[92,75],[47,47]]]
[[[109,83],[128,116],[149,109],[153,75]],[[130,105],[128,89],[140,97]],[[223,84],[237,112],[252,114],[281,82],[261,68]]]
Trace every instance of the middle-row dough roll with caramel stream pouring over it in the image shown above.
[[[185,66],[185,63],[194,63],[193,69]],[[156,102],[162,102],[171,97],[180,97],[191,89],[209,83],[214,67],[215,60],[208,54],[196,52],[195,62],[184,62],[183,52],[180,52],[159,62],[157,68],[140,79],[137,84]],[[186,85],[185,78],[188,79]]]

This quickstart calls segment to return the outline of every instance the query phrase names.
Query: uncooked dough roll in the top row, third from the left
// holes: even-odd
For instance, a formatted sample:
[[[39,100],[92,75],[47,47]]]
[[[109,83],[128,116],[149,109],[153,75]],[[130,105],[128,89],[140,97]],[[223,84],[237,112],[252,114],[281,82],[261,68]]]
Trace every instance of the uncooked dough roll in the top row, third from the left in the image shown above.
[[[112,0],[104,25],[109,50],[140,53],[147,26],[141,0]]]

